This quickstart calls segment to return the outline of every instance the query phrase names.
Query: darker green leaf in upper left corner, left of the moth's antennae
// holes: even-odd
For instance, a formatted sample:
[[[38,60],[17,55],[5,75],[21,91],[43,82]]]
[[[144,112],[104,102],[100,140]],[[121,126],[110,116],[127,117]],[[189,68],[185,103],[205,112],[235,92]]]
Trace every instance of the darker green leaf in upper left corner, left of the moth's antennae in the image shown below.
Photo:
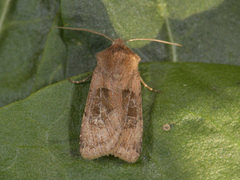
[[[0,6],[0,106],[3,106],[29,96],[31,91],[39,89],[36,84],[49,84],[42,81],[56,82],[63,78],[56,80],[51,76],[59,62],[53,59],[52,71],[46,74],[51,80],[36,77],[43,61],[61,55],[60,43],[54,41],[54,57],[45,56],[51,48],[49,40],[53,39],[48,37],[53,34],[50,28],[60,15],[58,1],[6,0]]]

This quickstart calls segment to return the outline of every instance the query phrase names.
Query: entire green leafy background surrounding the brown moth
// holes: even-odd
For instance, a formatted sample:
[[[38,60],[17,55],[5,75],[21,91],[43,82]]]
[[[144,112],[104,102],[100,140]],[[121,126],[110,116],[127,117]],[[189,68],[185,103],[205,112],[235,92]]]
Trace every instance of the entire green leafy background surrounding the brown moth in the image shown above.
[[[239,178],[239,9],[237,0],[0,0],[0,178]],[[143,88],[137,163],[81,158],[89,82],[65,79],[93,71],[111,42],[56,26],[183,45],[127,43],[142,78],[162,91]]]

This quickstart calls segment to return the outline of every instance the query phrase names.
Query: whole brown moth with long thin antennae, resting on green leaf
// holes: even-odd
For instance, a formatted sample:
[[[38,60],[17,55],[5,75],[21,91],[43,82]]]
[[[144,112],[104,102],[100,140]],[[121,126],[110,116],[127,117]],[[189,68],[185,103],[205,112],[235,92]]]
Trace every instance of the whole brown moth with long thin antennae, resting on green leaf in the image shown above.
[[[59,28],[87,31],[112,41],[109,48],[96,55],[97,66],[92,74],[81,125],[81,156],[84,159],[95,159],[114,155],[129,163],[136,162],[140,156],[143,136],[141,82],[153,90],[140,77],[140,57],[125,46],[121,39],[112,40],[88,29]],[[156,39],[127,41],[135,40],[179,45]],[[89,77],[71,82],[81,83]]]

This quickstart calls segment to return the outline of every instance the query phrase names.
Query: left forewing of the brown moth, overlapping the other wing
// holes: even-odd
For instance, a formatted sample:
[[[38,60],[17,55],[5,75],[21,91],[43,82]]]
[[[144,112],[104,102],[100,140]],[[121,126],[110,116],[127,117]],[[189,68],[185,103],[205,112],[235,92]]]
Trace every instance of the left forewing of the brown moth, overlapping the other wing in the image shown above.
[[[80,152],[85,159],[108,155],[121,133],[114,99],[104,87],[104,77],[97,66],[93,72],[81,126]]]

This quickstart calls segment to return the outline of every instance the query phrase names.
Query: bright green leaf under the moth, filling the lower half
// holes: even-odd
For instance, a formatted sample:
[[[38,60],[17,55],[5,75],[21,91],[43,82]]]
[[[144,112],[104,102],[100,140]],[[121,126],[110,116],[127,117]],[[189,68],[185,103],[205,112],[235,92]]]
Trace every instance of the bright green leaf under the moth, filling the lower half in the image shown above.
[[[0,179],[237,179],[240,67],[143,63],[140,72],[162,93],[142,89],[144,136],[136,163],[82,159],[89,82],[62,81],[0,109]]]

